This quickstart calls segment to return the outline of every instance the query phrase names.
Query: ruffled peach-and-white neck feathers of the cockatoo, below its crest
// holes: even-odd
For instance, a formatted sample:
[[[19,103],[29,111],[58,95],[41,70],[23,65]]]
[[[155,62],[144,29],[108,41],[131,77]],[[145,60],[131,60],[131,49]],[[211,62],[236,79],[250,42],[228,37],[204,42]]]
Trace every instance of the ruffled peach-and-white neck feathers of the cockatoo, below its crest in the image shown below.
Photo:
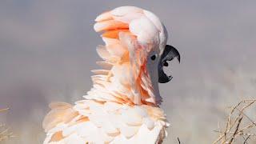
[[[138,45],[127,34],[119,34],[118,39],[103,37],[103,40],[106,46],[97,48],[99,56],[104,60],[97,62],[102,70],[92,70],[95,74],[92,76],[94,86],[85,98],[129,105],[158,106],[162,99],[158,82],[152,82],[146,69],[145,49],[132,52],[131,49]]]

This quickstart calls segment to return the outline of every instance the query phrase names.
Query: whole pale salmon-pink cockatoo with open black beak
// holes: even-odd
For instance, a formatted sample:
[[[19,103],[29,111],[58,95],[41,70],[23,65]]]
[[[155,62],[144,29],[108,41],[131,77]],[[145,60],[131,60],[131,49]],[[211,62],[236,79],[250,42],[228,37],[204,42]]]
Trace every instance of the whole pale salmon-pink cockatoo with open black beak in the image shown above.
[[[105,42],[97,48],[102,70],[92,70],[94,85],[85,99],[74,106],[50,104],[44,143],[162,143],[169,123],[159,107],[158,82],[172,78],[163,71],[166,61],[180,60],[178,50],[166,45],[165,26],[134,6],[107,11],[95,21]]]

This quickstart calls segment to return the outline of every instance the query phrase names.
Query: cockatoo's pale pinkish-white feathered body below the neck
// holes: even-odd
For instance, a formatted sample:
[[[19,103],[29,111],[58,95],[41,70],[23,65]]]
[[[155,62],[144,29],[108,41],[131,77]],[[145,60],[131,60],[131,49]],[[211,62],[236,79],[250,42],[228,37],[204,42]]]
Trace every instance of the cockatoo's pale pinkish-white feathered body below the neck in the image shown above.
[[[55,121],[46,126],[45,143],[158,143],[166,136],[166,118],[158,107],[82,100],[51,108],[48,116]]]

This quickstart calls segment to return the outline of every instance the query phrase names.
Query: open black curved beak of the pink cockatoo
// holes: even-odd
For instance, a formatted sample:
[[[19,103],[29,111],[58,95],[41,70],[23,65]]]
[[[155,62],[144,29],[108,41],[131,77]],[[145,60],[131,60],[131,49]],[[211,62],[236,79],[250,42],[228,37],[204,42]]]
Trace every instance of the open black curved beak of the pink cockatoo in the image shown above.
[[[170,80],[173,78],[171,75],[167,76],[163,70],[163,66],[168,66],[168,62],[166,61],[172,61],[174,58],[178,59],[178,62],[180,62],[181,57],[178,53],[178,50],[174,48],[174,46],[166,45],[165,50],[163,50],[161,58],[159,60],[158,64],[158,82],[159,83],[166,83],[170,82]]]

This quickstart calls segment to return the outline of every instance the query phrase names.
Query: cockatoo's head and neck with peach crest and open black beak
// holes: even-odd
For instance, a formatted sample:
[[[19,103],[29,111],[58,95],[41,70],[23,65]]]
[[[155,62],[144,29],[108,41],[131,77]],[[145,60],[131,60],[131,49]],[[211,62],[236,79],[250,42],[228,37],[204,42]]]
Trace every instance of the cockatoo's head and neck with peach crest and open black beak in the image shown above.
[[[100,14],[94,30],[102,32],[105,46],[98,46],[104,70],[93,70],[94,87],[88,98],[158,106],[158,82],[170,82],[163,66],[180,54],[166,45],[166,27],[148,10],[122,6]],[[93,97],[94,96],[94,97]]]

